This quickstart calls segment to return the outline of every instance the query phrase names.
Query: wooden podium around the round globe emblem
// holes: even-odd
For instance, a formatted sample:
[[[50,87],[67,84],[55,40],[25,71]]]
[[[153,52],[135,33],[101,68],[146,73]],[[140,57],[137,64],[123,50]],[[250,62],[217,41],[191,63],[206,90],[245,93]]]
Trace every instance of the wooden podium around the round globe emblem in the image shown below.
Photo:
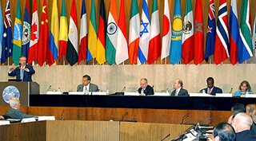
[[[40,87],[37,82],[0,82],[0,92],[3,93],[3,90],[7,86],[18,88],[20,93],[19,100],[22,106],[30,106],[30,94],[39,94],[40,92]],[[9,106],[9,104],[3,100],[2,96],[0,98],[0,106]]]

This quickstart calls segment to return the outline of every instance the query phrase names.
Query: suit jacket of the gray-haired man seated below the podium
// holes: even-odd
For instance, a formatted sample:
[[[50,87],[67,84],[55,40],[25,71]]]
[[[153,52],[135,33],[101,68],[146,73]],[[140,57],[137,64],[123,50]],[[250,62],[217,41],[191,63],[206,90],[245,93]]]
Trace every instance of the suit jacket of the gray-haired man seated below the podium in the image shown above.
[[[6,111],[6,116],[10,116],[13,119],[24,119],[24,118],[38,117],[38,116],[26,115],[24,112],[22,112],[18,109],[14,109],[14,108],[9,108]]]

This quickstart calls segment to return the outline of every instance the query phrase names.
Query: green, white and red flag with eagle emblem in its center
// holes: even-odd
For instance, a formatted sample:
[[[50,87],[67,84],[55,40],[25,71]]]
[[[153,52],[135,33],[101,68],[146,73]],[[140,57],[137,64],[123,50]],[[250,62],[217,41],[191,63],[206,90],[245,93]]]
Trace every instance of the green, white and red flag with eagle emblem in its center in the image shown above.
[[[182,61],[187,65],[194,58],[194,21],[191,0],[186,0],[182,33]]]

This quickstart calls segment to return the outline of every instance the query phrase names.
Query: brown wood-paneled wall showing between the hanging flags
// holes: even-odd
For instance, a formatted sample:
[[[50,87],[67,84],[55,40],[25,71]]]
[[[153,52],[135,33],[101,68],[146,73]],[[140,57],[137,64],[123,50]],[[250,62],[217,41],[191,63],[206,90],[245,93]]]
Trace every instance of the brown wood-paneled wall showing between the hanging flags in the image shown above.
[[[81,8],[82,8],[82,0],[75,0],[76,1],[76,6],[77,6],[77,14],[78,14],[78,35],[80,31],[80,17],[81,17]],[[97,22],[97,27],[98,27],[98,14],[99,14],[99,9],[100,9],[100,0],[94,0],[95,1],[95,7],[96,7],[96,22]],[[226,0],[227,2],[227,10],[228,10],[228,15],[230,13],[230,1],[231,0]],[[6,7],[6,0],[0,0],[1,2],[1,8],[2,8],[2,15],[4,15],[5,7]],[[25,10],[25,4],[26,0],[20,0],[21,2],[21,10],[22,10],[22,20],[23,20],[23,15],[24,15],[24,10]],[[32,9],[33,9],[33,0],[29,0],[30,3],[30,17],[32,15]],[[51,18],[51,10],[52,10],[52,2],[53,0],[47,0],[47,7],[48,7],[48,18],[49,18],[49,23],[50,23],[50,18]],[[70,19],[70,9],[71,9],[71,3],[72,0],[65,0],[66,2],[66,16],[67,20],[69,22]],[[91,7],[91,0],[85,0],[86,2],[86,13],[87,13],[87,22],[89,23],[90,20],[90,7]],[[106,6],[106,19],[108,18],[108,13],[110,10],[110,0],[104,0],[105,6]],[[120,2],[121,0],[116,0],[117,4],[117,10],[118,10],[118,15],[119,15],[119,7],[120,7]],[[129,33],[129,20],[130,20],[130,6],[131,6],[132,0],[125,0],[125,8],[126,8],[126,29],[127,33]],[[150,11],[150,16],[151,16],[151,10],[152,10],[152,2],[153,0],[148,0],[149,3],[149,11]],[[175,0],[169,0],[169,6],[170,6],[170,21],[173,21],[173,16],[174,16],[174,2]],[[196,0],[192,0],[193,2],[193,10],[195,7],[195,2]],[[238,3],[238,20],[240,21],[240,14],[241,14],[241,6],[242,6],[242,0],[237,0]],[[41,21],[41,15],[42,15],[42,4],[43,0],[38,0],[38,18],[39,22]],[[62,0],[58,0],[58,16],[61,15],[61,7],[62,7]],[[216,17],[218,16],[218,5],[219,5],[219,0],[215,0],[215,14]],[[10,0],[10,11],[11,11],[11,19],[12,19],[12,25],[14,25],[14,18],[16,14],[16,6],[17,6],[17,0]],[[139,13],[140,16],[142,14],[142,0],[138,0],[138,6],[139,6]],[[256,9],[254,8],[256,6],[256,1],[250,0],[250,11],[251,11],[251,21],[254,22],[254,16]],[[186,9],[186,0],[181,0],[181,7],[182,7],[182,18],[184,17],[185,9]],[[208,22],[208,7],[209,7],[209,0],[202,0],[202,10],[203,12],[203,24],[204,24],[204,38],[205,38],[205,43],[206,43],[206,27],[207,27],[207,22]],[[160,22],[160,31],[161,31],[161,37],[162,37],[162,21],[163,21],[163,10],[164,10],[164,0],[158,0],[158,10],[159,10],[159,22]],[[240,24],[240,23],[239,23]],[[89,24],[87,24],[89,25]],[[50,24],[49,24],[50,26]],[[12,26],[14,28],[14,26]],[[127,34],[128,38],[128,34]],[[58,60],[57,60],[58,61]],[[158,58],[158,61],[156,64],[160,64],[160,58]],[[193,62],[191,62],[193,63]],[[206,63],[206,62],[204,62]],[[229,59],[226,60],[224,63],[230,63]],[[6,65],[7,63],[5,63]],[[12,64],[12,61],[10,60],[10,65]],[[58,65],[62,65],[62,61],[58,62]],[[66,61],[67,64],[67,61]],[[82,64],[82,63],[80,63]],[[89,64],[92,64],[92,61],[89,62]],[[97,64],[96,61],[94,61],[94,64]],[[107,64],[107,63],[106,63]],[[126,61],[125,64],[130,64],[130,61]],[[169,59],[167,59],[167,64],[170,64]]]

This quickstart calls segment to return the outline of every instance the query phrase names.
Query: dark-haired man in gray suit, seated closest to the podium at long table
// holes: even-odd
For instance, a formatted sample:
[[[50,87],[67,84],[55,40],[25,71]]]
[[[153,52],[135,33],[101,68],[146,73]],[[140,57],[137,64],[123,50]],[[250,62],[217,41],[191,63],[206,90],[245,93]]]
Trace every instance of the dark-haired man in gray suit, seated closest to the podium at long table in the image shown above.
[[[77,92],[98,92],[98,85],[90,83],[90,76],[82,76],[82,84],[78,85]]]

